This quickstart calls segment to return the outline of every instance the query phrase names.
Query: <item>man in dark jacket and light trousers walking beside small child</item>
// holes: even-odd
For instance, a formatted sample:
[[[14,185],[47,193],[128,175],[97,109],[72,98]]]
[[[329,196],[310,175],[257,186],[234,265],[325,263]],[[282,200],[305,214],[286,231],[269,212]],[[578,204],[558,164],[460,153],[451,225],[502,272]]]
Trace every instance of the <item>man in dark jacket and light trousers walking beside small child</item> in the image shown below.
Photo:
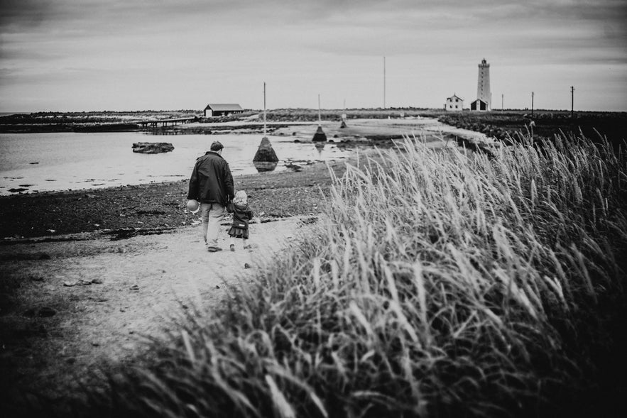
[[[215,141],[209,151],[196,160],[187,192],[187,199],[200,202],[202,238],[211,253],[222,251],[218,246],[220,221],[226,212],[227,202],[235,194],[233,176],[229,163],[222,158],[222,148],[222,143]]]

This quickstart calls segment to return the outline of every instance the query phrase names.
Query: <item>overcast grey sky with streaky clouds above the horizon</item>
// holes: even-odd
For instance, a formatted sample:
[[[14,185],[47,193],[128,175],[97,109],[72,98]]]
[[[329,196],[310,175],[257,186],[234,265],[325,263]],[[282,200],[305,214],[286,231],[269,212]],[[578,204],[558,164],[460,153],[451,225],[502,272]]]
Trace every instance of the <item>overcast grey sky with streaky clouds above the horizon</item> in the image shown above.
[[[625,0],[0,0],[0,111],[627,111]]]

